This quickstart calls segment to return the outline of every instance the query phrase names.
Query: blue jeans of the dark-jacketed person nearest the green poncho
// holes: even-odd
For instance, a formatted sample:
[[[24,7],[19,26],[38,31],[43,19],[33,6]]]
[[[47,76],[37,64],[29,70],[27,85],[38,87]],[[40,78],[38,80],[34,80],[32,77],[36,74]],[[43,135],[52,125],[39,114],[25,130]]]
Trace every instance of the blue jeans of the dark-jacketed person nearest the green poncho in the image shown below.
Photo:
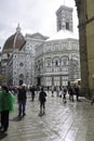
[[[26,101],[18,101],[18,116],[24,115],[26,111]]]

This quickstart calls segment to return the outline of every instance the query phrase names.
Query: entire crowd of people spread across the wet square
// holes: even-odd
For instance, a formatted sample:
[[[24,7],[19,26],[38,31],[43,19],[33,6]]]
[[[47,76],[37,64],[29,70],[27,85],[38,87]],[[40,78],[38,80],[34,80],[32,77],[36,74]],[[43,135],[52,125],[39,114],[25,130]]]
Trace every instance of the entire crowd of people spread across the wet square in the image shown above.
[[[15,95],[17,98],[18,103],[18,115],[17,117],[26,116],[26,102],[27,102],[27,91],[31,93],[31,102],[35,102],[36,92],[39,93],[39,102],[40,102],[40,112],[39,115],[45,114],[45,102],[46,102],[46,93],[52,92],[52,98],[55,95],[57,98],[63,98],[63,102],[67,102],[66,95],[69,94],[69,100],[73,102],[73,95],[76,94],[77,101],[80,95],[80,87],[78,85],[68,86],[68,87],[38,87],[35,86],[29,87],[27,89],[26,86],[22,85],[16,88],[2,86],[0,87],[0,131],[6,132],[9,128],[9,116],[10,112],[14,111],[13,103],[15,102]]]

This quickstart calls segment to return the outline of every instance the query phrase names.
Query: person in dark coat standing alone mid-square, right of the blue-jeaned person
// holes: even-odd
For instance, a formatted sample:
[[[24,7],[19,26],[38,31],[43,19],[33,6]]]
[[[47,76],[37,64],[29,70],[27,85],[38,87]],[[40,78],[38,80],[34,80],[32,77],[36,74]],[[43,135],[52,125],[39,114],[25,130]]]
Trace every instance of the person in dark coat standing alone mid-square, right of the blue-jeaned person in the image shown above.
[[[39,93],[39,101],[40,101],[40,114],[45,114],[44,110],[45,110],[45,99],[46,93],[44,92],[43,88],[41,88],[41,91]]]

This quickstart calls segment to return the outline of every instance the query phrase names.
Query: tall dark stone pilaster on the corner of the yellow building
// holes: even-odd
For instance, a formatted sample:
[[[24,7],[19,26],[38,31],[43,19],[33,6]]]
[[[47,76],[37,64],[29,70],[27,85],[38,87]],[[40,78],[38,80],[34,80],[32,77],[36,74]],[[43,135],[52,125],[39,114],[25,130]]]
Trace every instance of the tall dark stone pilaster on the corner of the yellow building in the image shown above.
[[[81,64],[81,94],[90,98],[88,44],[86,44],[86,0],[75,0],[79,17],[79,44]]]

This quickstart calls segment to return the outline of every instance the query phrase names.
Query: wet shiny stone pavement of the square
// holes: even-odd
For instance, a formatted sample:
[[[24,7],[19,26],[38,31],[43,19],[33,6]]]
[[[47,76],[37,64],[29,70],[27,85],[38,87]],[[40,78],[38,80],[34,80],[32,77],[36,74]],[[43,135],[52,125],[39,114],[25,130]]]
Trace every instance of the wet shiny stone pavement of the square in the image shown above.
[[[45,115],[39,116],[39,101],[36,94],[35,102],[28,93],[26,116],[18,119],[17,102],[15,112],[10,115],[8,134],[3,141],[94,141],[94,105],[89,100],[80,98],[81,102],[67,103],[63,98],[51,97],[48,93]]]

